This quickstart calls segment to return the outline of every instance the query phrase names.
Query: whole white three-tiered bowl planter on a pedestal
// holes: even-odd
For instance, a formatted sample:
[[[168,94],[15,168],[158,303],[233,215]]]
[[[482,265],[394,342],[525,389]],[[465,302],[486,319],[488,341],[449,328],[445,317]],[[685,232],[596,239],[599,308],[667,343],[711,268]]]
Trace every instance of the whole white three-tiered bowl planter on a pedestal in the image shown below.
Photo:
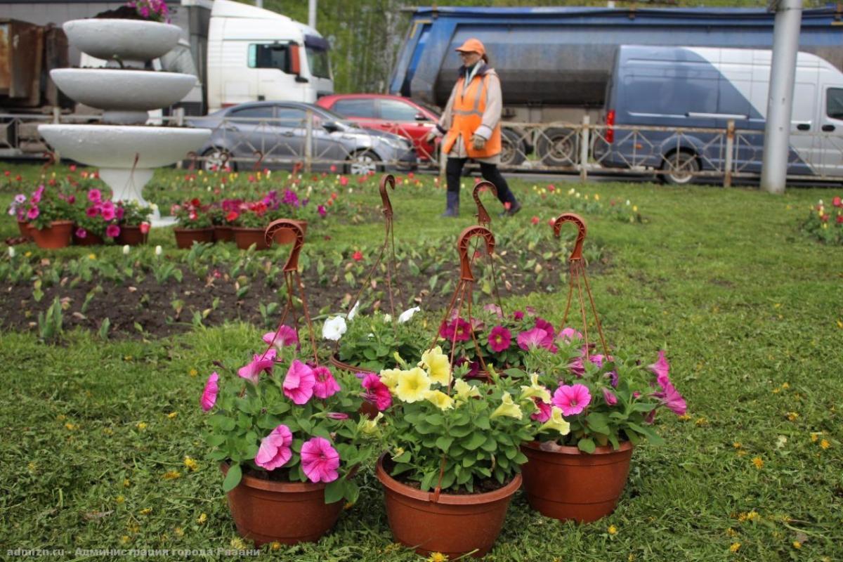
[[[148,61],[175,47],[180,29],[139,19],[75,19],[63,25],[80,51],[107,61],[105,68],[56,68],[56,86],[76,101],[104,110],[103,125],[41,125],[38,131],[64,158],[99,167],[115,201],[143,201],[141,190],[153,169],[197,150],[210,129],[145,126],[148,110],[179,101],[196,77],[145,71]],[[156,209],[153,225],[169,223]]]

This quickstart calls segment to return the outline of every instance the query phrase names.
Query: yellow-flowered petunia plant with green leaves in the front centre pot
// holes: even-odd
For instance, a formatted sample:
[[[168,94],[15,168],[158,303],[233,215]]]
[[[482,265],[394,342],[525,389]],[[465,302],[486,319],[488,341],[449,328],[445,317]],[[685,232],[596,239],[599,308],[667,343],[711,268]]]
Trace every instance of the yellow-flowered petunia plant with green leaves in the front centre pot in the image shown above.
[[[469,367],[452,372],[440,347],[425,351],[416,365],[396,356],[398,368],[362,380],[366,398],[384,414],[379,435],[388,451],[384,468],[421,490],[481,493],[507,483],[527,461],[520,446],[540,432],[563,436],[561,411],[537,424],[534,397],[550,399],[537,381],[513,377],[466,380]]]

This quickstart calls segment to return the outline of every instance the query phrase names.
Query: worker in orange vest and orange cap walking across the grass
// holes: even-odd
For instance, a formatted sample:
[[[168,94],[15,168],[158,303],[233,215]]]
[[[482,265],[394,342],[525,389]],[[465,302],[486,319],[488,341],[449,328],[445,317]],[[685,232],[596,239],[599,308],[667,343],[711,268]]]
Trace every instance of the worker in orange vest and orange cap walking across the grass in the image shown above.
[[[504,207],[500,216],[512,216],[521,210],[521,203],[497,169],[501,162],[501,80],[489,67],[486,47],[480,40],[466,40],[457,52],[463,62],[459,79],[438,125],[427,135],[427,142],[444,135],[442,154],[448,155],[448,205],[443,217],[459,216],[459,179],[469,158],[480,163],[483,179],[497,188],[497,198]]]

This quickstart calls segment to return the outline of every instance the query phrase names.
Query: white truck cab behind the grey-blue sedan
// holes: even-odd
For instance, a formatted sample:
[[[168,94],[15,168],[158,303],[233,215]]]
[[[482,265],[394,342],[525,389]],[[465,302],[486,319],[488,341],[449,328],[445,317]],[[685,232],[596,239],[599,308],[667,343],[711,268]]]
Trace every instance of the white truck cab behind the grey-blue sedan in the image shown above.
[[[328,41],[280,13],[216,0],[207,50],[208,113],[249,101],[312,103],[334,92]]]

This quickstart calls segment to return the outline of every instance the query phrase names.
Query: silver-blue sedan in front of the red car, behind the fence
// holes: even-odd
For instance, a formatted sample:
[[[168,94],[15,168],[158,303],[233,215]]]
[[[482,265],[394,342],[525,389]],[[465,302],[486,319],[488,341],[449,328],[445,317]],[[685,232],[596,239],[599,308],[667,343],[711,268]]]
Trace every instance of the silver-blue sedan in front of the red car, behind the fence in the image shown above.
[[[308,127],[309,114],[313,124]],[[205,169],[292,169],[310,158],[312,169],[368,174],[384,169],[415,169],[416,151],[402,136],[362,129],[333,111],[299,102],[251,102],[189,118],[191,126],[212,129],[199,152]],[[308,131],[310,154],[308,155]]]

